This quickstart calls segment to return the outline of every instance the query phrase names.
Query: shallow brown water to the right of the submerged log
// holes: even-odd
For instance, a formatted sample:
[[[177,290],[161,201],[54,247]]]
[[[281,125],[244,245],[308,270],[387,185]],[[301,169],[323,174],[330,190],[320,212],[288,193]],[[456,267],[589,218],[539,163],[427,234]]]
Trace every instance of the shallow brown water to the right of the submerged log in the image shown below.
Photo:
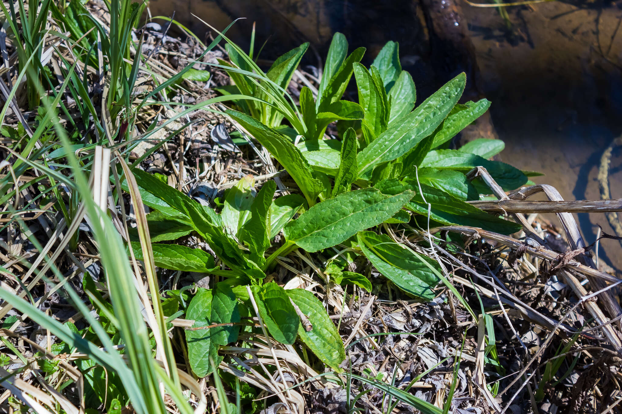
[[[622,6],[622,3],[620,3]],[[494,9],[464,7],[491,115],[506,142],[504,161],[541,171],[565,199],[599,199],[600,157],[622,133],[622,10],[616,4],[580,8],[534,4],[510,13],[522,41],[501,35]],[[622,197],[622,151],[611,159],[611,196]],[[603,214],[578,214],[588,243]],[[600,257],[622,269],[618,241],[603,240]]]

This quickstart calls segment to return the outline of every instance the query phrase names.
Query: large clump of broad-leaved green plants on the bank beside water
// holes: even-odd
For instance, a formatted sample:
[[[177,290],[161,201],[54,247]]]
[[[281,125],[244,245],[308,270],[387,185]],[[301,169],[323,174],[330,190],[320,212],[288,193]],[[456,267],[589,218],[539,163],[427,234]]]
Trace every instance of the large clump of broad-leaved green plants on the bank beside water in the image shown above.
[[[186,310],[186,317],[196,321],[193,330],[186,332],[186,339],[190,365],[198,376],[213,369],[205,363],[205,355],[218,361],[221,358],[218,347],[236,341],[240,325],[244,325],[239,315],[252,313],[255,304],[258,316],[275,340],[291,344],[298,337],[318,358],[338,369],[345,355],[343,346],[320,302],[304,290],[290,292],[274,282],[264,283],[266,272],[275,259],[296,248],[317,252],[337,245],[350,246],[356,254],[366,256],[399,289],[415,297],[432,299],[440,280],[448,284],[439,265],[433,259],[407,250],[389,236],[367,229],[383,223],[408,223],[411,221],[409,211],[420,218],[430,213],[430,220],[443,224],[476,225],[503,233],[519,228],[466,203],[470,197],[478,197],[478,192],[463,172],[476,165],[485,165],[504,187],[514,188],[526,182],[526,176],[518,169],[476,155],[482,153],[490,157],[499,149],[497,142],[493,143],[492,151],[482,149],[485,143],[467,148],[472,153],[433,150],[473,122],[488,109],[490,102],[457,104],[465,86],[465,76],[461,74],[412,110],[414,84],[399,67],[396,43],[388,43],[374,61],[379,69],[373,65],[367,70],[356,63],[362,51],[345,57],[347,45],[343,44],[341,36],[335,35],[333,39],[328,68],[318,90],[320,98],[316,102],[305,101],[303,94],[311,95],[309,89],[303,89],[302,119],[289,103],[291,100],[284,97],[286,84],[279,82],[289,82],[287,74],[292,73],[299,62],[305,45],[279,58],[268,74],[262,73],[251,56],[232,43],[228,50],[235,65],[220,65],[228,68],[241,96],[263,98],[248,101],[259,104],[254,109],[246,107],[249,114],[234,110],[227,110],[226,114],[270,151],[295,181],[304,199],[294,194],[273,200],[276,185],[272,181],[255,193],[253,178],[249,176],[228,191],[218,213],[151,174],[139,169],[133,171],[145,195],[143,199],[156,210],[147,216],[147,223],[160,229],[154,233],[154,238],[174,240],[180,234],[196,232],[228,268],[215,266],[213,259],[206,257],[202,250],[164,243],[152,245],[157,266],[226,277],[213,289],[199,289]],[[320,140],[321,135],[318,137],[315,133],[304,135],[305,145],[315,141],[317,145],[322,142],[324,147],[309,150],[307,145],[306,151],[300,151],[299,146],[281,132],[281,126],[275,124],[282,119],[294,119],[292,126],[304,125],[304,130],[309,132],[319,125],[317,115],[324,114],[327,107],[357,105],[340,100],[352,73],[356,77],[363,112],[361,135],[348,127],[343,132],[340,150],[333,149],[333,143],[338,140]],[[285,105],[287,110],[284,110]],[[275,113],[280,115],[275,118]],[[305,117],[305,114],[313,116]],[[326,119],[332,122],[339,118]],[[320,127],[322,135],[326,125]],[[318,158],[323,157],[323,163],[313,158],[317,153],[322,153]],[[294,220],[294,215],[301,211]],[[284,243],[268,254],[272,238],[280,231],[285,236]],[[132,247],[139,255],[137,245]],[[339,282],[343,281],[341,269],[334,268],[332,272],[341,278],[337,279]],[[359,283],[371,287],[360,279]],[[303,330],[294,304],[309,318],[312,326],[323,329],[312,329],[311,333]],[[322,335],[322,331],[326,335]]]

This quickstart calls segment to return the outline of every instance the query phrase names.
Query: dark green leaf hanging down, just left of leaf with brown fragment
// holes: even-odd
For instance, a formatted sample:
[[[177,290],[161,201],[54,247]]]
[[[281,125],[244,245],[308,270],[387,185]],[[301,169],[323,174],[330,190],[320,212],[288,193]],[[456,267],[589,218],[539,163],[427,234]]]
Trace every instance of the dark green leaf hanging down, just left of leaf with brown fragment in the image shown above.
[[[272,337],[284,344],[293,344],[298,335],[300,319],[285,290],[276,283],[253,286],[253,295],[264,325]]]

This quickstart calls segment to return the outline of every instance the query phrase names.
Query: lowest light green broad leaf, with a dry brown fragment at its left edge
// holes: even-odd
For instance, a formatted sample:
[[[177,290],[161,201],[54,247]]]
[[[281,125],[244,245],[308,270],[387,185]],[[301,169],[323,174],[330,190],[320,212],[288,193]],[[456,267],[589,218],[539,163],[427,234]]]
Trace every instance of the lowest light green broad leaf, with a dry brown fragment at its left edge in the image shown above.
[[[302,324],[299,325],[298,335],[300,340],[313,351],[320,361],[327,364],[337,372],[343,371],[339,367],[346,358],[343,341],[335,327],[335,323],[328,317],[324,305],[312,292],[305,289],[286,290],[287,295],[294,301],[300,312],[309,318],[312,330],[305,331]]]

